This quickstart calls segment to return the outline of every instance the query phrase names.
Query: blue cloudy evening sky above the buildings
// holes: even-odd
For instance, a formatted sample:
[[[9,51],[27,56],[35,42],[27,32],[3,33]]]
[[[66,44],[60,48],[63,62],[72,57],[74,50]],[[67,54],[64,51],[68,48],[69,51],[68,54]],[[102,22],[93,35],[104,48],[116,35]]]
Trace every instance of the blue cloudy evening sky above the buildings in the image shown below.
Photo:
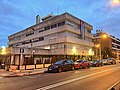
[[[68,12],[120,38],[120,4],[111,0],[0,0],[0,47],[7,46],[8,36],[35,24],[40,17]]]

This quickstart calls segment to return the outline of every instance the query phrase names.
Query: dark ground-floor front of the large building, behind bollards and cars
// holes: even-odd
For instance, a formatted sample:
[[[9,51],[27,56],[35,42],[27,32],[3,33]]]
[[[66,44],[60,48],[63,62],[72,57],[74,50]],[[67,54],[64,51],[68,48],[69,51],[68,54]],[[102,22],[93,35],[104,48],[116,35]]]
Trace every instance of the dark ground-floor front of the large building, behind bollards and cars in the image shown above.
[[[37,69],[44,68],[54,62],[62,59],[87,59],[92,60],[92,56],[84,55],[28,55],[28,54],[15,54],[10,56],[2,56],[1,64],[4,64],[4,69]]]

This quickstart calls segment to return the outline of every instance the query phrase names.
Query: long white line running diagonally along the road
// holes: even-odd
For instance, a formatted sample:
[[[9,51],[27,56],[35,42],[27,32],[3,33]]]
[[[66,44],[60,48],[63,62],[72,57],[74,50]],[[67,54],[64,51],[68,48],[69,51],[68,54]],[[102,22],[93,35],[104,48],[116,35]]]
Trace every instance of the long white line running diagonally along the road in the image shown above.
[[[112,70],[115,70],[115,69],[118,69],[118,68],[120,68],[120,67],[109,69],[109,70],[104,70],[104,71],[97,72],[97,73],[94,73],[94,74],[89,74],[89,75],[85,75],[85,76],[82,76],[82,77],[74,78],[74,79],[71,79],[71,80],[67,80],[67,81],[56,83],[56,84],[48,85],[48,86],[41,87],[41,88],[36,89],[36,90],[48,90],[48,89],[55,88],[55,87],[58,87],[58,86],[61,86],[61,85],[64,85],[64,84],[68,84],[68,83],[71,83],[71,82],[74,82],[74,81],[77,81],[77,80],[88,78],[88,77],[91,77],[91,76],[94,76],[94,75],[97,75],[97,74],[101,74],[101,73],[104,73],[104,72],[112,71]]]

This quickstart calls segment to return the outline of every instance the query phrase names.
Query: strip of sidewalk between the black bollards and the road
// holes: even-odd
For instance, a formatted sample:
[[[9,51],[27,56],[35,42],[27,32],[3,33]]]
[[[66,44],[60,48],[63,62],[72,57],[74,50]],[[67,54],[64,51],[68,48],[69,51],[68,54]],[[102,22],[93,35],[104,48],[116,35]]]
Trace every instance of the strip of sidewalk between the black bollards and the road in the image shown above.
[[[19,77],[19,76],[28,76],[28,75],[36,75],[47,72],[47,68],[42,69],[34,69],[34,70],[14,70],[14,71],[6,71],[0,70],[0,77]]]

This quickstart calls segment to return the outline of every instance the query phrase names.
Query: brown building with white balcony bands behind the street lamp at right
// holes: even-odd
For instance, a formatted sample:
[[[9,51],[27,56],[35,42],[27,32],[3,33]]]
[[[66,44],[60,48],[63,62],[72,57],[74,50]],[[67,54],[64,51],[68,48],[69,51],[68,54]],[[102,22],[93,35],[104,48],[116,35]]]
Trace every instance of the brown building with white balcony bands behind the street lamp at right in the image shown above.
[[[102,38],[102,35],[106,34],[106,38]],[[120,39],[113,35],[109,35],[103,30],[96,30],[94,35],[95,44],[101,44],[101,49],[109,48],[117,59],[120,60]]]

